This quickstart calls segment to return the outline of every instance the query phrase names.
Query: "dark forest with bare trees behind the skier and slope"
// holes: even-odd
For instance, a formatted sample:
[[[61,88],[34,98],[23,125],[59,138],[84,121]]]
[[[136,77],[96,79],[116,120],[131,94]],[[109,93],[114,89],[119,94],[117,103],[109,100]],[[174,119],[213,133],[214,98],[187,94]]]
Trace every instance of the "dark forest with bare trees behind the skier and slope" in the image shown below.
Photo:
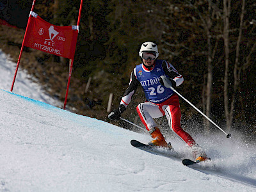
[[[15,62],[32,3],[0,3],[0,19],[15,26],[0,26],[0,49]],[[34,12],[51,24],[76,25],[79,4],[79,0],[38,0]],[[141,63],[140,45],[153,41],[159,58],[172,63],[184,77],[182,86],[176,88],[179,93],[228,132],[238,129],[255,138],[255,18],[255,0],[84,1],[67,109],[110,122],[109,94],[114,95],[115,109],[132,69]],[[27,47],[20,67],[33,74],[45,92],[64,100],[67,59]],[[90,84],[88,90],[86,84]],[[136,106],[144,100],[139,88],[124,117],[141,125]],[[216,131],[182,99],[180,108],[184,129]],[[132,129],[124,122],[111,123]],[[157,123],[166,126],[163,118]]]

